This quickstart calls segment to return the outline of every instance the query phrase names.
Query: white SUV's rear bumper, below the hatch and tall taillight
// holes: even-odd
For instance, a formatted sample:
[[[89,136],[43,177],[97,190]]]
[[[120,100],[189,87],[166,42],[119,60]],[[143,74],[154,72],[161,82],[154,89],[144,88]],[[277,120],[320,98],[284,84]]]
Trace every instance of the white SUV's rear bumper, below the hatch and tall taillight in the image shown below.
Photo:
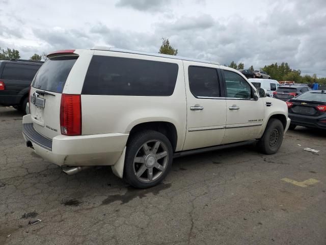
[[[31,128],[31,115],[23,117],[22,133],[25,141],[31,141],[37,155],[59,166],[114,165],[120,158],[128,139],[128,134],[110,133],[80,136],[58,135],[50,140],[36,135],[36,131],[33,134],[31,130],[26,130],[28,124]],[[43,137],[47,142],[51,141],[51,144],[45,146],[40,142],[39,137]]]

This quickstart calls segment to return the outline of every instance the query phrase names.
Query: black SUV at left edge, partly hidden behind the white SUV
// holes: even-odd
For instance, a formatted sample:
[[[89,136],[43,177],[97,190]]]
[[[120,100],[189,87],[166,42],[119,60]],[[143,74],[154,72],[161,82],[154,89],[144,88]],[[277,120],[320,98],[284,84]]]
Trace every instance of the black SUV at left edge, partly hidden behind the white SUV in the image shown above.
[[[26,113],[32,80],[43,61],[0,60],[0,105]]]

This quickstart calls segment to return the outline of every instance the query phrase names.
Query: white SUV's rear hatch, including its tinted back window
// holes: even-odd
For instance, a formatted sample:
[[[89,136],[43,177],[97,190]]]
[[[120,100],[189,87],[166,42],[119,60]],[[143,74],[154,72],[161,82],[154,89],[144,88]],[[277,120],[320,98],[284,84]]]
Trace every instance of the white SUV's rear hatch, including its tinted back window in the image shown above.
[[[78,55],[50,57],[37,72],[30,91],[30,113],[34,129],[52,139],[61,134],[60,105],[62,92]]]

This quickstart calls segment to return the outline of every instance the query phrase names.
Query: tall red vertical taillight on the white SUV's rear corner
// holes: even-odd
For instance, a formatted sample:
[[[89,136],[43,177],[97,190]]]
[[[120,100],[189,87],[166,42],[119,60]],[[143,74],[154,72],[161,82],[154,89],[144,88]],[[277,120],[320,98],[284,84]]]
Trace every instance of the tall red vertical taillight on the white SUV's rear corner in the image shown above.
[[[82,134],[82,102],[80,94],[62,94],[60,128],[64,135]]]

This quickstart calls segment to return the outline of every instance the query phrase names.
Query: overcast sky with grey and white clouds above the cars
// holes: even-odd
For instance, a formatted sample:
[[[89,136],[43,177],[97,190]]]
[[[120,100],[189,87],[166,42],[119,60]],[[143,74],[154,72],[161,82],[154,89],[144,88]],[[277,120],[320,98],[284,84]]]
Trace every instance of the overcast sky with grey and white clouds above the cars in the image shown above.
[[[0,47],[21,58],[66,48],[115,46],[247,68],[288,62],[326,77],[325,0],[0,0]]]

